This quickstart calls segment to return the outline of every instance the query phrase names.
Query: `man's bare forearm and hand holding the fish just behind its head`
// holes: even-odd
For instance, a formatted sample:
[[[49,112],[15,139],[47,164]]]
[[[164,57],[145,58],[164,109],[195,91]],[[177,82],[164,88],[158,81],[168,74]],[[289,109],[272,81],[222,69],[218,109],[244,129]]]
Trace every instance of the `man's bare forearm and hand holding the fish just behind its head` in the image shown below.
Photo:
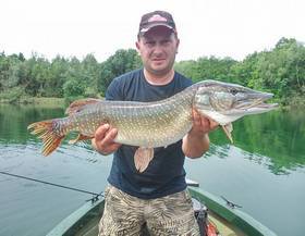
[[[188,158],[199,158],[209,149],[208,133],[219,124],[193,109],[193,127],[183,138],[182,150]]]

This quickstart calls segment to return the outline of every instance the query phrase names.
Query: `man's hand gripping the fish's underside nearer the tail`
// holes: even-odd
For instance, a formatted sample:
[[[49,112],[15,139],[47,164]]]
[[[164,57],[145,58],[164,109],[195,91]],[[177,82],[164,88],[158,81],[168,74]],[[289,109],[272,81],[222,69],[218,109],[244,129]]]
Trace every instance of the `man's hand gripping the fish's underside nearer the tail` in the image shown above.
[[[121,146],[121,144],[113,141],[117,135],[117,128],[111,128],[109,124],[103,124],[96,131],[91,145],[99,153],[110,154]]]

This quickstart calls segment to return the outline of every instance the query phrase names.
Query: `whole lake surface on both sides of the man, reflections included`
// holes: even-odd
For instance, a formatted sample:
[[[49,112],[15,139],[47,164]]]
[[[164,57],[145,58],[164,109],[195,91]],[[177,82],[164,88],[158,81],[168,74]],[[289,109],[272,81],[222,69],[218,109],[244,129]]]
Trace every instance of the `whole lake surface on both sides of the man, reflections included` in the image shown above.
[[[26,131],[64,109],[0,104],[0,171],[93,192],[107,185],[112,157],[66,141],[49,157]],[[209,152],[186,159],[187,177],[282,236],[305,232],[305,112],[274,111],[234,123],[234,145],[221,131]],[[91,196],[0,174],[0,236],[41,236]]]

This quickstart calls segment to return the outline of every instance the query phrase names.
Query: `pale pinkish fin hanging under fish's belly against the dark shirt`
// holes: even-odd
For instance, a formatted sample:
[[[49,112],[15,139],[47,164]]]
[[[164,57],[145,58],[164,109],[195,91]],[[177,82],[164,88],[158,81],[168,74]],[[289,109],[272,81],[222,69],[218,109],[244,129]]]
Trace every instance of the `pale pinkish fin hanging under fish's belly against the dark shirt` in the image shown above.
[[[149,162],[152,160],[154,158],[154,148],[143,148],[139,147],[138,149],[136,149],[135,153],[134,153],[134,164],[136,170],[142,173],[144,172]]]

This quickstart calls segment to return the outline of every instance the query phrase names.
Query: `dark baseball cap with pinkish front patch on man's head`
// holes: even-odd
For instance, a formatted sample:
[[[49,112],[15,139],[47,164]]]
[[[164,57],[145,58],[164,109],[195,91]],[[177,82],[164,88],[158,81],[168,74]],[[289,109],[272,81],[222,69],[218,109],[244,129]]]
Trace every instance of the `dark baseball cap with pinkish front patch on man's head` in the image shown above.
[[[154,11],[142,16],[139,22],[138,35],[144,35],[150,28],[160,25],[172,29],[174,33],[176,32],[173,17],[169,12]]]

